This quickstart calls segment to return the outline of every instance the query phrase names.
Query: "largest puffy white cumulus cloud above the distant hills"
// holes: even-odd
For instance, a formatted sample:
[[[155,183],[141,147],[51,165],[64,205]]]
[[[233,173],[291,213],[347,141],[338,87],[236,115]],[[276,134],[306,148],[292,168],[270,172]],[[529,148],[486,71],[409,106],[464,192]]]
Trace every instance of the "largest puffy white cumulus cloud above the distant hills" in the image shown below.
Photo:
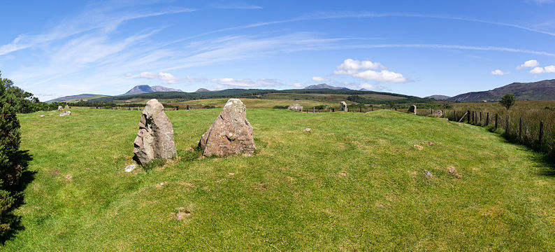
[[[337,75],[349,75],[354,78],[360,78],[363,80],[375,80],[380,83],[403,83],[407,79],[403,77],[403,74],[396,73],[394,71],[381,70],[366,70],[365,69],[385,69],[385,66],[381,63],[374,63],[368,60],[359,61],[353,59],[345,59],[343,64],[337,66],[337,70],[333,73]]]

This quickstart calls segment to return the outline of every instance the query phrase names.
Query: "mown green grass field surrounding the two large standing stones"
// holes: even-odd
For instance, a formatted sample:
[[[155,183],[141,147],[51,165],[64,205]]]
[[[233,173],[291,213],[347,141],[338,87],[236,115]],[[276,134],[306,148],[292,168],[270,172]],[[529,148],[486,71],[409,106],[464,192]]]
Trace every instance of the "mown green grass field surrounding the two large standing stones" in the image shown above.
[[[2,249],[555,250],[554,169],[484,128],[247,109],[255,155],[201,159],[187,150],[219,111],[167,111],[179,158],[131,173],[140,111],[21,115],[36,174],[17,211],[24,230]]]

